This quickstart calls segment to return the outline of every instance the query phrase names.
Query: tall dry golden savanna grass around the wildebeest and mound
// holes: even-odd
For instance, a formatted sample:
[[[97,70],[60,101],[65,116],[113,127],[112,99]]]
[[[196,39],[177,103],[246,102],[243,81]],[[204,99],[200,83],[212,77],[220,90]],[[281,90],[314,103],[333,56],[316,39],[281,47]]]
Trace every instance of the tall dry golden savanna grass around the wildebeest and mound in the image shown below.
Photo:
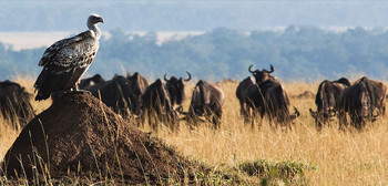
[[[17,78],[14,81],[33,93],[32,78]],[[316,110],[314,97],[298,97],[305,91],[316,93],[319,82],[284,84],[300,116],[292,131],[275,130],[264,120],[253,130],[244,124],[239,116],[239,103],[235,96],[238,82],[218,83],[225,93],[222,126],[214,131],[207,124],[191,131],[184,122],[176,133],[160,130],[156,134],[166,144],[175,146],[178,152],[204,162],[215,169],[226,170],[238,167],[246,162],[295,162],[307,165],[303,185],[388,185],[388,118],[382,117],[369,124],[361,132],[338,131],[336,121],[318,132],[310,116],[309,108]],[[188,108],[194,82],[186,89],[187,100],[184,110]],[[37,114],[49,107],[51,101],[34,102]],[[1,121],[0,154],[7,153],[18,136],[20,128]],[[150,131],[145,125],[142,131]],[[248,176],[243,184],[258,183]],[[243,178],[244,179],[244,178]]]

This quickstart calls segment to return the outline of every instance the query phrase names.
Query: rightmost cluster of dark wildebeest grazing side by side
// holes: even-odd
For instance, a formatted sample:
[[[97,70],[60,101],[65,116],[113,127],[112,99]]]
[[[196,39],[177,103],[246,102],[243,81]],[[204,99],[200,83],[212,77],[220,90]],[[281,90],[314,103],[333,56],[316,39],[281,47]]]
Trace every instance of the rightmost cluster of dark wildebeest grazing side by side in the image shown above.
[[[366,76],[353,85],[345,78],[337,81],[325,80],[319,84],[316,95],[317,111],[310,108],[310,113],[318,128],[337,115],[340,128],[350,123],[351,126],[361,130],[367,122],[375,122],[380,115],[385,115],[386,94],[385,84]]]

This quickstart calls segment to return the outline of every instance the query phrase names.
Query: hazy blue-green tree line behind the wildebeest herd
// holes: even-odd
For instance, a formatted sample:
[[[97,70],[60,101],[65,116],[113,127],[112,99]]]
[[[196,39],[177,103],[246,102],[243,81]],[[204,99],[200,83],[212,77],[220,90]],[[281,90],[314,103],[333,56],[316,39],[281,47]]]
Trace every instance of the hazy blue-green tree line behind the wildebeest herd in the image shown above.
[[[89,74],[136,72],[147,78],[164,73],[196,79],[243,79],[251,64],[275,66],[283,80],[310,81],[365,74],[387,80],[388,32],[382,28],[330,32],[315,27],[289,25],[284,31],[252,31],[217,28],[201,35],[156,44],[156,33],[130,34],[116,29],[102,39]],[[0,43],[0,76],[37,75],[45,48],[14,51]]]

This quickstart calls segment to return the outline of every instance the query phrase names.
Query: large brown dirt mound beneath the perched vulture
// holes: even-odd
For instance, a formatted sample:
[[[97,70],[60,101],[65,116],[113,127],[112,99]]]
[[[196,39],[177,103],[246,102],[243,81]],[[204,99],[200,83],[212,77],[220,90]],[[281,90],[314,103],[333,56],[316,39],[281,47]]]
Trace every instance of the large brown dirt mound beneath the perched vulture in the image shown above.
[[[109,177],[126,184],[156,184],[169,177],[183,182],[192,177],[187,173],[193,168],[202,172],[202,166],[126,123],[89,94],[67,94],[33,118],[1,167],[8,177],[34,178],[38,173],[51,178]]]

